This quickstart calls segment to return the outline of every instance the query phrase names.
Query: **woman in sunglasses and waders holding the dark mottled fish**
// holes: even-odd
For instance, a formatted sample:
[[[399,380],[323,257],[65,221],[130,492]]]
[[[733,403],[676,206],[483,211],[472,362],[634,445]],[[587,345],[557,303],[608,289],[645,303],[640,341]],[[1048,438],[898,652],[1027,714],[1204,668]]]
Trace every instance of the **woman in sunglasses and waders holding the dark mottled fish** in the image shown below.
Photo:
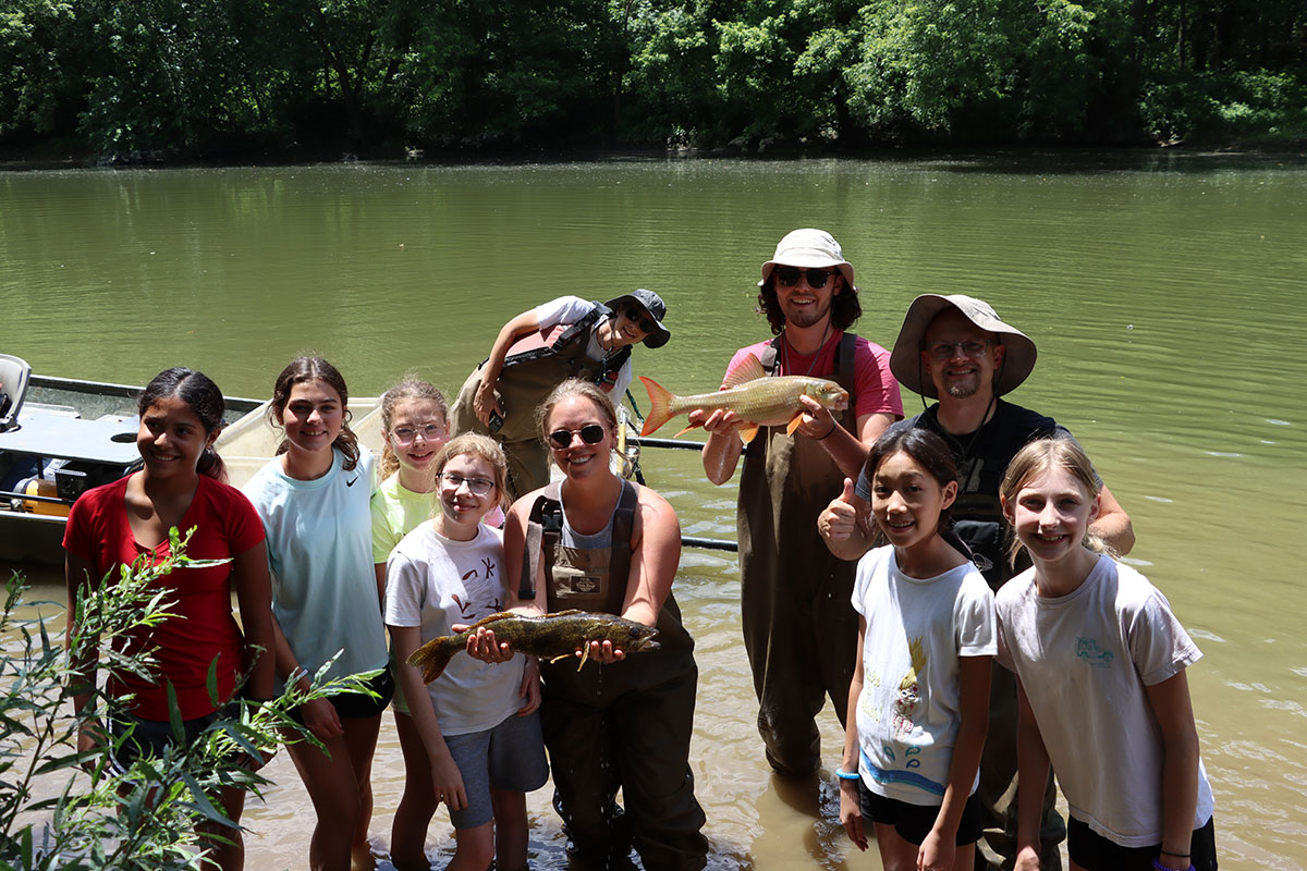
[[[591,641],[576,653],[603,669],[578,669],[571,657],[541,663],[554,807],[580,867],[608,867],[634,845],[648,871],[702,868],[708,844],[689,765],[698,666],[672,597],[680,522],[665,499],[612,473],[617,414],[605,392],[567,380],[545,401],[541,423],[565,479],[508,512],[512,610],[617,614],[657,627],[661,645],[627,657],[609,640]],[[511,645],[481,628],[468,653],[503,661]]]

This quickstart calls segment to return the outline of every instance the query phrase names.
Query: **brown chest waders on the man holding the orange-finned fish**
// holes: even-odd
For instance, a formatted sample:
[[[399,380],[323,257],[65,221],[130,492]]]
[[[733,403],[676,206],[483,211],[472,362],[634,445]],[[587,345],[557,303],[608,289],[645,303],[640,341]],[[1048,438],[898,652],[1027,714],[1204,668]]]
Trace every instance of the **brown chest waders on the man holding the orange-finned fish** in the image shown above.
[[[835,351],[835,380],[850,407],[836,415],[857,437],[853,353],[844,333]],[[783,337],[763,351],[776,372]],[[789,372],[789,375],[793,375]],[[857,657],[856,563],[831,555],[817,515],[839,495],[844,473],[814,439],[759,430],[744,452],[737,509],[740,616],[758,696],[758,733],[767,763],[780,774],[805,777],[821,763],[816,717],[826,696],[839,722],[848,710],[848,683]]]

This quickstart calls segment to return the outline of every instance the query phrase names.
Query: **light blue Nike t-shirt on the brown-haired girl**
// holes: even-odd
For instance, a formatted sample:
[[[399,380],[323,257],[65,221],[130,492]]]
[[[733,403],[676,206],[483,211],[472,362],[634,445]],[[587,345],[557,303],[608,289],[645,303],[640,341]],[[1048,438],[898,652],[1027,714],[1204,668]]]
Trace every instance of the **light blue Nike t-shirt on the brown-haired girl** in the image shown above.
[[[268,534],[272,612],[310,676],[341,649],[331,678],[383,669],[389,656],[372,567],[372,454],[361,453],[346,471],[333,449],[315,481],[289,477],[273,457],[244,486]]]

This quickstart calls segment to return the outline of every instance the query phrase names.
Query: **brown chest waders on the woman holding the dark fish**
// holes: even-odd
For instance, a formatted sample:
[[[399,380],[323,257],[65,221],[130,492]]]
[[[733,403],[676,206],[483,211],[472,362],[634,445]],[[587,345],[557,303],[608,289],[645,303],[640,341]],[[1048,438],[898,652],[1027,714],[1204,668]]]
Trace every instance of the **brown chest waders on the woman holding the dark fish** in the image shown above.
[[[532,505],[519,598],[536,597],[545,569],[546,611],[621,614],[631,565],[638,491],[622,482],[606,547],[563,543],[558,483]],[[704,816],[694,798],[690,734],[698,667],[694,641],[670,594],[659,614],[661,649],[610,665],[575,657],[541,662],[540,708],[574,868],[626,867],[631,846],[647,871],[695,871],[706,863]],[[626,810],[617,806],[622,790]]]

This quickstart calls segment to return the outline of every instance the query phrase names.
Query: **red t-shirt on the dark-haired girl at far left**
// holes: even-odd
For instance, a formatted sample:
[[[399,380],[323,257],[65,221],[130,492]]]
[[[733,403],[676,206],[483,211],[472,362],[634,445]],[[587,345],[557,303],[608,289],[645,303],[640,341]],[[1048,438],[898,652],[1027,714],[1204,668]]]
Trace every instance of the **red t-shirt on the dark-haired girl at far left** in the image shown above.
[[[64,530],[64,550],[95,567],[98,581],[110,571],[116,578],[123,564],[149,555],[152,564],[166,559],[169,542],[153,551],[137,543],[127,520],[127,482],[115,481],[89,490],[73,504]],[[226,559],[244,554],[264,539],[263,524],[250,500],[237,490],[207,475],[200,475],[191,507],[186,509],[178,530],[195,528],[186,555],[191,559]],[[231,563],[209,568],[178,569],[156,581],[175,602],[165,610],[169,618],[128,640],[125,652],[142,646],[156,648],[159,682],[149,683],[135,675],[111,680],[111,695],[135,693],[132,713],[142,720],[167,720],[167,680],[176,689],[183,720],[213,713],[209,699],[209,665],[218,657],[218,699],[225,701],[235,688],[237,674],[243,667],[244,640],[231,614]],[[72,603],[69,603],[72,605]]]

